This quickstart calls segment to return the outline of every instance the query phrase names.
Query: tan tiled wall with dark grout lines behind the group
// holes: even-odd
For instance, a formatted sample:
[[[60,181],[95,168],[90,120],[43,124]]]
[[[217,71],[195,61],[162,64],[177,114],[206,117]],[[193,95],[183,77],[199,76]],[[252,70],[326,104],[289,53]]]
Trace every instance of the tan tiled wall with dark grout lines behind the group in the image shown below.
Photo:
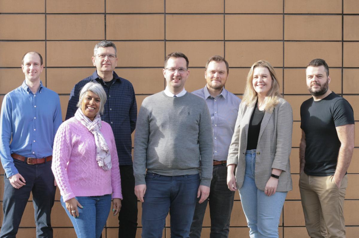
[[[285,201],[279,234],[308,237],[298,190],[299,107],[310,97],[304,68],[314,58],[327,61],[330,88],[348,99],[358,124],[358,24],[357,0],[0,0],[0,102],[22,83],[21,57],[29,50],[43,55],[46,70],[41,78],[59,93],[63,116],[71,88],[94,71],[91,56],[99,40],[115,42],[116,72],[133,83],[138,106],[146,96],[164,89],[163,59],[170,52],[181,51],[190,60],[187,91],[204,87],[204,65],[210,56],[224,55],[230,65],[226,88],[239,97],[248,67],[266,59],[275,66],[281,92],[294,113],[290,157],[294,190]],[[359,125],[356,128],[359,135]],[[358,136],[355,146],[345,200],[348,238],[359,233]],[[0,174],[1,180],[4,171]],[[0,200],[3,186],[1,182]],[[57,191],[52,213],[55,234],[75,237],[59,196]],[[238,194],[235,199],[230,237],[247,237]],[[139,227],[140,221],[141,212]],[[103,237],[116,237],[117,224],[110,215]],[[202,237],[209,237],[208,214],[203,225]],[[21,227],[18,237],[35,237],[30,201]],[[139,228],[138,237],[140,233]],[[169,237],[169,222],[164,234]]]

